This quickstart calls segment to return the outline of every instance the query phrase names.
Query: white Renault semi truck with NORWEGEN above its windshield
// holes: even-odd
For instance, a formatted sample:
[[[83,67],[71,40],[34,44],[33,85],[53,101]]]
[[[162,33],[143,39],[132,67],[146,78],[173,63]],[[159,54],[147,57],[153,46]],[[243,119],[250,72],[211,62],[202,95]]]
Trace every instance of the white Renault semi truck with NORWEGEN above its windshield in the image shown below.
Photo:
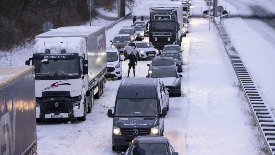
[[[60,27],[35,36],[36,121],[86,120],[107,73],[105,26]]]

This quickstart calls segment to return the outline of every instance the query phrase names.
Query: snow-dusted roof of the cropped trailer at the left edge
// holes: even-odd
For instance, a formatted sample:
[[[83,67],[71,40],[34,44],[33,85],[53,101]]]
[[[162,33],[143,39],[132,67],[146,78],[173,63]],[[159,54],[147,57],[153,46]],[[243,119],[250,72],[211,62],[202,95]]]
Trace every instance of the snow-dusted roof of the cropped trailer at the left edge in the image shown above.
[[[34,69],[34,66],[0,67],[0,87]]]

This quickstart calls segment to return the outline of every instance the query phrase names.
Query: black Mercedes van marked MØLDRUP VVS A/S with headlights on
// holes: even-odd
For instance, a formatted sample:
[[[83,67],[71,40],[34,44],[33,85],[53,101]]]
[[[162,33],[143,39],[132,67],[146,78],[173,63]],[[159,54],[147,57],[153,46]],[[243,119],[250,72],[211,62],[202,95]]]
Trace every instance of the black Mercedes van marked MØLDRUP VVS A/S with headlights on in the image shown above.
[[[161,86],[157,78],[125,78],[117,90],[113,118],[112,149],[128,148],[136,136],[163,136]]]

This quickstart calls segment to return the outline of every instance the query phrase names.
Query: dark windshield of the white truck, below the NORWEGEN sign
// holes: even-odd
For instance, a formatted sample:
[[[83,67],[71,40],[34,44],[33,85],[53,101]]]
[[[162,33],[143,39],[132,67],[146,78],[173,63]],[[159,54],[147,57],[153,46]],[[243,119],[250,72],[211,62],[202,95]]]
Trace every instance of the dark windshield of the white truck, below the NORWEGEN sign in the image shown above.
[[[79,59],[34,59],[35,77],[38,76],[70,76],[79,78]],[[55,79],[55,78],[54,78]],[[60,79],[60,78],[58,78]]]

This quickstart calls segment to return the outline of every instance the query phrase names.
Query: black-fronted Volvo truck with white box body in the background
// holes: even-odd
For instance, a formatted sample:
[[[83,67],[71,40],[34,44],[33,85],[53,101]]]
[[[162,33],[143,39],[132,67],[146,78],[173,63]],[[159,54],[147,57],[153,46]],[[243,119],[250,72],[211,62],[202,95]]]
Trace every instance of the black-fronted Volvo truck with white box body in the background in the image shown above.
[[[149,25],[148,25],[149,24]],[[182,4],[158,4],[150,7],[149,42],[156,49],[182,43]]]

